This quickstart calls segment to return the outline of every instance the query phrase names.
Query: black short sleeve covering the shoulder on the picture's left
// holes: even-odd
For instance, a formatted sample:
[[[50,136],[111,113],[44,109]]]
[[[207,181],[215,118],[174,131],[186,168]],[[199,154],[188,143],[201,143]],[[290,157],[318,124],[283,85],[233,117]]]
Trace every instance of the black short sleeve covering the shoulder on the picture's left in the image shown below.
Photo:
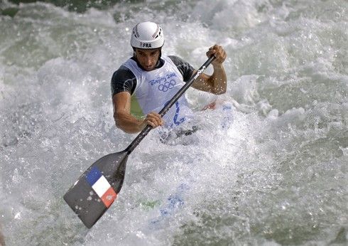
[[[129,70],[129,68],[121,65],[121,67],[112,75],[111,87],[112,96],[119,92],[126,91],[132,95],[136,87],[136,76],[131,72],[131,70]]]

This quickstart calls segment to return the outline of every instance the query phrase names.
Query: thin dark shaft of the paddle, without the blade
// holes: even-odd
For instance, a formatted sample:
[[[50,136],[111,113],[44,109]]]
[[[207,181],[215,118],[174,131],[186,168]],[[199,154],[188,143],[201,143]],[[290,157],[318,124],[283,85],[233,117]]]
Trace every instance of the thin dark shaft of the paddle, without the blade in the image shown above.
[[[192,77],[190,78],[189,81],[187,81],[185,83],[185,85],[183,87],[181,87],[181,89],[172,97],[172,99],[170,99],[170,101],[163,107],[163,109],[161,109],[160,112],[158,112],[158,114],[161,115],[161,117],[163,117],[163,115],[168,112],[168,110],[170,109],[170,107],[172,107],[176,101],[178,101],[178,99],[185,93],[185,91],[188,89],[188,87],[190,87],[192,85],[193,82],[195,82],[195,80],[197,79],[197,77],[199,77],[203,71],[207,68],[208,65],[210,65],[210,63],[212,63],[212,60],[214,60],[214,55],[212,55],[210,58],[208,58],[208,60],[200,67],[200,69],[198,69],[196,71],[196,73],[194,75],[192,75]],[[146,135],[148,134],[148,132],[150,132],[150,130],[153,127],[151,127],[150,125],[147,125],[139,134],[138,136],[131,142],[131,144],[129,144],[129,146],[127,147],[126,151],[128,152],[128,154],[131,154],[131,151],[133,151],[136,146],[138,146],[138,144],[141,142],[141,140],[143,140],[144,137],[146,137]]]

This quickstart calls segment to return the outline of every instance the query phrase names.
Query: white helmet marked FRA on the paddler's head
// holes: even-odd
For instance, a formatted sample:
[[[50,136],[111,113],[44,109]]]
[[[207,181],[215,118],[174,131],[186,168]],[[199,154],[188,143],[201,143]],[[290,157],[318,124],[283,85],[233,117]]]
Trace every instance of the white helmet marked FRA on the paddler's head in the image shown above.
[[[161,48],[163,44],[163,31],[158,24],[146,21],[134,26],[131,33],[131,46],[133,48]]]

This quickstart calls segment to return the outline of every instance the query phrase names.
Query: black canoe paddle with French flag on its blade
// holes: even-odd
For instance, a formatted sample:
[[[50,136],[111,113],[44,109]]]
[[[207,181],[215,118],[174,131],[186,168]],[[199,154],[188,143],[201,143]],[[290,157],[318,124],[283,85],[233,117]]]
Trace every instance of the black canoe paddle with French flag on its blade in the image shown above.
[[[192,82],[212,63],[212,60],[214,60],[214,56],[210,57],[161,109],[159,114],[162,117],[192,85]],[[151,129],[152,127],[147,125],[124,151],[108,154],[95,161],[65,193],[65,202],[74,210],[87,228],[92,228],[116,199],[124,183],[128,156]]]

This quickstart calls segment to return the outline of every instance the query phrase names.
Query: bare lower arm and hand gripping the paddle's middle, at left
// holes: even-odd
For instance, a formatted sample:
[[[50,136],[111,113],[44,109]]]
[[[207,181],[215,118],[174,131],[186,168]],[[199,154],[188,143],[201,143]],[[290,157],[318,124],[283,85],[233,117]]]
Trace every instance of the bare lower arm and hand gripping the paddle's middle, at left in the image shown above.
[[[163,125],[160,114],[151,112],[145,119],[137,119],[131,115],[131,94],[129,92],[119,92],[112,97],[114,105],[114,120],[116,127],[127,133],[141,132],[146,125],[156,128]]]

